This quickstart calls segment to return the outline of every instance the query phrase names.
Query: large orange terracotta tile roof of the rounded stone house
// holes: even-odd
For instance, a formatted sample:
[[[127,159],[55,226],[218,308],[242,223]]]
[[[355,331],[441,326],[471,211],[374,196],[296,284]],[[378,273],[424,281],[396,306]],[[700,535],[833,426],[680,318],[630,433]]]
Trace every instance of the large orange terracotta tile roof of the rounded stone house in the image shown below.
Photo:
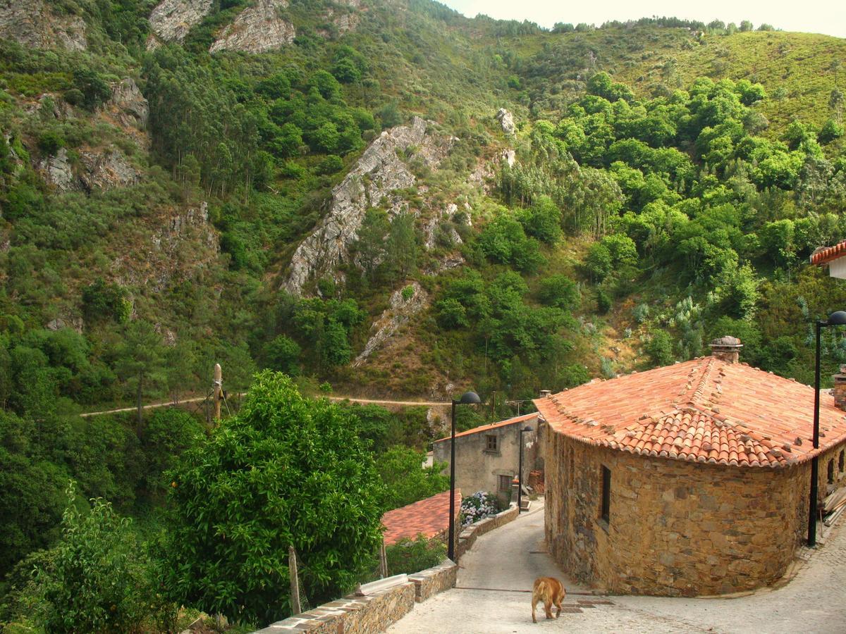
[[[644,456],[739,467],[786,467],[846,440],[846,413],[814,389],[776,374],[704,357],[593,381],[535,401],[552,429]]]

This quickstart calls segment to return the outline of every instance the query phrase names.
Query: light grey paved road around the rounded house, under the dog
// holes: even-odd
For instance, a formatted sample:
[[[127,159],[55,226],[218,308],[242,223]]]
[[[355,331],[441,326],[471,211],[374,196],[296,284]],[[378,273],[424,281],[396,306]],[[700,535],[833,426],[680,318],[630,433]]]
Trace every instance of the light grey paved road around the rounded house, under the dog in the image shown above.
[[[514,522],[477,539],[461,560],[457,587],[415,605],[388,632],[846,632],[842,526],[781,588],[741,598],[592,597],[547,555],[542,500],[534,505]],[[558,620],[546,620],[541,605],[533,624],[530,588],[544,575],[561,578],[568,596]]]

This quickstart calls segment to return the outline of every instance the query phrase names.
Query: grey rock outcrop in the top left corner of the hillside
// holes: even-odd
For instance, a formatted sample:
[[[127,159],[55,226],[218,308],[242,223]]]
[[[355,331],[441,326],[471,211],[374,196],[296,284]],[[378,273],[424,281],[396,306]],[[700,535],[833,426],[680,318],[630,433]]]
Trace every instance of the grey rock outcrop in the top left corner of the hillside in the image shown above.
[[[85,21],[58,14],[44,0],[0,0],[0,37],[31,48],[85,51]]]

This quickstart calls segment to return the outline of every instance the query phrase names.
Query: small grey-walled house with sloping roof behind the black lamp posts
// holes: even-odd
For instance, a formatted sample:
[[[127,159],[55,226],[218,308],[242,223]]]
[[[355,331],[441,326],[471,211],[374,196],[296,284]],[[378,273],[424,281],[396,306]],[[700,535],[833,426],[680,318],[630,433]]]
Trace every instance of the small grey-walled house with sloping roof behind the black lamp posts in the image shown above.
[[[511,481],[519,470],[520,429],[530,427],[523,434],[523,476],[528,481],[538,459],[537,413],[508,418],[498,423],[482,425],[455,435],[455,486],[467,495],[489,491],[501,498],[511,496]],[[450,437],[436,440],[433,447],[435,462],[450,460]],[[449,469],[444,473],[449,473]]]

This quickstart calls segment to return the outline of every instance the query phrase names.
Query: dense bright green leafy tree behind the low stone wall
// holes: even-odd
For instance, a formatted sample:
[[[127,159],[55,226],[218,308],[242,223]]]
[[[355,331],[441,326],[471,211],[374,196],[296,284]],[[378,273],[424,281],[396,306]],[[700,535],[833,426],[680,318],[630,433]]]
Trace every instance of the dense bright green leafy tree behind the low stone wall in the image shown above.
[[[264,625],[290,614],[288,546],[311,604],[349,591],[381,539],[382,484],[357,419],[266,370],[170,472],[173,598]]]

